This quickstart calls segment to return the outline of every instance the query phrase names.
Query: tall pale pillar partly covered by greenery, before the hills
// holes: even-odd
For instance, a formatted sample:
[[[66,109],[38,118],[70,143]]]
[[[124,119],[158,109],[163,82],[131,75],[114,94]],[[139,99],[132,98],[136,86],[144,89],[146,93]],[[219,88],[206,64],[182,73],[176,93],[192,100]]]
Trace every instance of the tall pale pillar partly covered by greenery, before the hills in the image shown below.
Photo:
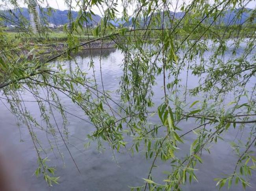
[[[28,1],[28,11],[30,17],[30,24],[34,33],[39,33],[40,29],[40,17],[39,17],[39,6],[37,4],[37,0],[29,0]]]

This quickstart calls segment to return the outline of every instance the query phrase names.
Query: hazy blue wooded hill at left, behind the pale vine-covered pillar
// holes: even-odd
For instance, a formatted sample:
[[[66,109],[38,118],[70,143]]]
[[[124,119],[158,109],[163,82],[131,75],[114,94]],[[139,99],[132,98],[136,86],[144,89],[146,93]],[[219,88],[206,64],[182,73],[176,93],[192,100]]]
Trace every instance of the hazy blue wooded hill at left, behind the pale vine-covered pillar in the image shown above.
[[[42,8],[40,15],[45,17],[49,24],[53,25],[63,25],[69,23],[68,10],[61,11],[59,9],[53,9],[52,14],[47,15],[47,9]],[[71,11],[72,20],[78,16],[77,11]],[[0,17],[4,17],[4,25],[15,25],[21,22],[20,18],[23,16],[29,20],[28,8],[12,9],[0,11]],[[89,20],[88,25],[96,25],[100,21],[101,17],[99,15],[92,15],[93,20]],[[43,22],[43,21],[42,21]]]

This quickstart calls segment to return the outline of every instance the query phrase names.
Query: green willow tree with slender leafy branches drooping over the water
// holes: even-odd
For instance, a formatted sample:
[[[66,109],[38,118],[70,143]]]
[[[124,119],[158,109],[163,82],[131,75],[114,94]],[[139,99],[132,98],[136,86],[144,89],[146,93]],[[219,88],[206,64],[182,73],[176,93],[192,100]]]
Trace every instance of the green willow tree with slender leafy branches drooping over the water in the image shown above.
[[[6,2],[19,8],[15,0]],[[68,38],[61,53],[43,54],[36,45],[27,46],[27,42],[35,38],[26,27],[19,29],[23,31],[20,41],[24,48],[21,49],[16,41],[10,43],[1,27],[1,99],[7,100],[12,113],[30,132],[38,156],[35,174],[42,175],[49,185],[58,181],[53,175],[56,169],[47,165],[35,129],[47,132],[51,147],[56,146],[53,140],[61,138],[69,152],[67,115],[72,113],[61,101],[59,95],[64,95],[80,107],[86,116],[83,120],[95,128],[88,137],[98,141],[99,146],[107,142],[117,152],[129,146],[132,153],[143,151],[146,158],[153,159],[145,184],[136,187],[137,190],[181,190],[182,184],[197,181],[195,169],[198,162],[202,163],[201,155],[210,152],[209,145],[217,144],[217,140],[232,129],[241,132],[247,129],[246,140],[234,137],[231,147],[237,163],[232,174],[217,179],[217,186],[239,183],[244,188],[249,186],[249,176],[256,168],[253,152],[256,146],[256,11],[247,8],[249,3],[250,0],[122,0],[118,4],[116,0],[76,0],[78,16],[70,19],[70,30],[64,26]],[[65,0],[65,4],[71,10],[71,2]],[[134,13],[129,15],[134,5]],[[102,13],[102,20],[92,30],[84,28],[96,8]],[[248,16],[242,20],[245,14]],[[113,20],[121,23],[118,28],[112,24]],[[74,35],[81,30],[88,37],[85,42],[79,42]],[[94,36],[93,40],[89,35]],[[124,55],[118,102],[108,94],[102,78],[100,82],[96,82],[96,78],[92,80],[79,65],[52,64],[54,60],[75,59],[72,53],[91,42],[109,40],[115,42]],[[241,44],[244,48],[238,54]],[[227,52],[229,56],[224,56]],[[210,55],[207,59],[206,53]],[[93,57],[89,66],[95,71]],[[184,71],[186,85],[181,84]],[[196,87],[187,86],[189,73],[198,80]],[[152,87],[159,76],[163,99],[162,104],[156,106],[152,101]],[[24,92],[34,96],[42,122],[26,107]],[[232,102],[226,103],[230,95]],[[195,102],[189,103],[188,98]],[[53,110],[60,112],[63,124],[56,122]],[[158,116],[157,123],[152,124],[151,115]],[[188,129],[180,125],[186,121],[189,124],[193,121],[195,126]],[[184,139],[189,133],[195,133],[193,142]],[[179,156],[179,147],[184,143],[190,144],[190,152]],[[69,154],[72,157],[72,153]],[[158,171],[155,165],[158,160],[171,162],[164,182],[160,183],[152,176],[153,171]]]

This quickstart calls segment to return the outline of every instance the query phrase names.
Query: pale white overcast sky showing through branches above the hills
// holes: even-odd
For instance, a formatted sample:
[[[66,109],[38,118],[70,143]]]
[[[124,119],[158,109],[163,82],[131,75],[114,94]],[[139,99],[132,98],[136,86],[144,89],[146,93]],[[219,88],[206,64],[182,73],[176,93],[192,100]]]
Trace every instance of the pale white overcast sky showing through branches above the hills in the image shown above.
[[[19,2],[19,5],[21,7],[27,7],[26,4],[24,4],[24,0],[17,0]],[[65,4],[65,0],[38,0],[38,1],[43,1],[44,3],[41,4],[42,7],[46,7],[47,5],[47,2],[48,4],[50,5],[50,7],[54,8],[54,9],[60,9],[60,10],[67,10],[69,9],[68,8],[68,5]],[[77,0],[73,0],[72,2],[72,6],[74,7],[74,11],[78,11],[79,10],[79,7],[76,6],[76,1]],[[121,0],[115,0],[117,1],[118,5],[117,5],[117,10],[119,12],[122,12],[122,5],[121,5]],[[185,2],[186,4],[188,4],[189,2],[191,2],[191,0],[173,0],[173,4],[176,4],[176,2],[178,1],[178,11],[179,11],[179,7],[182,5],[183,2]],[[210,0],[210,2],[214,2],[214,0]],[[0,5],[3,5],[3,2],[0,2]],[[8,5],[7,5],[8,6]],[[251,2],[249,2],[249,4],[247,5],[248,8],[255,8],[256,7],[256,0],[252,0]],[[175,8],[175,7],[174,7]],[[173,8],[173,9],[174,9]],[[132,15],[133,12],[134,12],[134,9],[135,9],[135,6],[133,7],[128,7],[128,15]],[[92,8],[92,11],[97,14],[97,15],[100,15],[102,16],[102,12],[99,11],[99,9],[97,7],[93,7]],[[174,10],[171,10],[171,11],[174,11]]]

